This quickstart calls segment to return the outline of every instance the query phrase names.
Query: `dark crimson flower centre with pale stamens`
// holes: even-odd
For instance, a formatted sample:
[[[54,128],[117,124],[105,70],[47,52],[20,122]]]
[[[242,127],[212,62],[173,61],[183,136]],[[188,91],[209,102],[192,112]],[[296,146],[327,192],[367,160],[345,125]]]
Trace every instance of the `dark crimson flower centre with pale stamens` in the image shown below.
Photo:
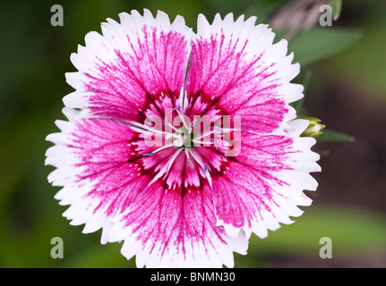
[[[188,181],[197,174],[210,181],[212,172],[220,174],[225,170],[227,156],[233,156],[232,152],[239,148],[234,134],[241,125],[235,121],[236,116],[227,115],[205,98],[177,101],[161,93],[140,110],[145,118],[131,123],[134,130],[142,133],[143,141],[136,146],[143,146],[135,151],[143,156],[143,168],[154,168],[149,172],[153,174],[151,182],[169,172],[174,178],[171,181],[176,179],[176,172]]]

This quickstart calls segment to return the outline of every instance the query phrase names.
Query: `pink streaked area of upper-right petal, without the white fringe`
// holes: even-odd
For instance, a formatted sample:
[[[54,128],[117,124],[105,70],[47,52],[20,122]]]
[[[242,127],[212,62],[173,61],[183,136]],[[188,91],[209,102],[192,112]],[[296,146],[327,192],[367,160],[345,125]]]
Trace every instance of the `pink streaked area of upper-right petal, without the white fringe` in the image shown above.
[[[199,94],[219,98],[217,108],[227,114],[242,115],[243,130],[270,133],[279,127],[288,110],[279,82],[275,80],[275,63],[262,62],[262,55],[246,58],[248,41],[236,52],[238,39],[225,36],[193,41],[186,90],[191,102]]]

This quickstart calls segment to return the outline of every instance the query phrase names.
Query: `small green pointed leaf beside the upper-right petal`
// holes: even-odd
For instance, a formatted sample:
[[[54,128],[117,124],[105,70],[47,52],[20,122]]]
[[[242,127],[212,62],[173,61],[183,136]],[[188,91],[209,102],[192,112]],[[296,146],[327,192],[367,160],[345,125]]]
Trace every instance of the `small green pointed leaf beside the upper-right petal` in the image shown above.
[[[300,30],[288,43],[295,63],[306,65],[336,55],[361,38],[357,30],[315,28]]]

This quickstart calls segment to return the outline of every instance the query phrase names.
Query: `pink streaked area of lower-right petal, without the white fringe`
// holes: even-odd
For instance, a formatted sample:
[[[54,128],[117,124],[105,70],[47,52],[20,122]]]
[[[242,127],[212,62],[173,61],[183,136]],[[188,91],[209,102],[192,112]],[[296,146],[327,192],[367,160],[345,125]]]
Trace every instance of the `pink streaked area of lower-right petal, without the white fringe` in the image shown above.
[[[237,162],[230,162],[227,170],[212,180],[216,213],[234,227],[250,227],[262,209],[271,212],[270,206],[276,204],[273,195],[278,195],[274,186],[287,184],[275,173],[291,170],[285,162],[293,152],[290,138],[245,133],[243,140]]]

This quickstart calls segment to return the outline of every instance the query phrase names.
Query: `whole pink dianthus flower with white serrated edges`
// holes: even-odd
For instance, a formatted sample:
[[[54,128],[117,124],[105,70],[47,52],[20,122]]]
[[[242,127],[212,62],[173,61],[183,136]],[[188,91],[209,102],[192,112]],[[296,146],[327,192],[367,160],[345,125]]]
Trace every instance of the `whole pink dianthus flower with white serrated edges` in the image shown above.
[[[124,241],[138,267],[232,267],[317,187],[309,122],[288,105],[299,64],[255,17],[200,14],[196,34],[162,12],[119,18],[71,55],[48,181],[71,224]]]

